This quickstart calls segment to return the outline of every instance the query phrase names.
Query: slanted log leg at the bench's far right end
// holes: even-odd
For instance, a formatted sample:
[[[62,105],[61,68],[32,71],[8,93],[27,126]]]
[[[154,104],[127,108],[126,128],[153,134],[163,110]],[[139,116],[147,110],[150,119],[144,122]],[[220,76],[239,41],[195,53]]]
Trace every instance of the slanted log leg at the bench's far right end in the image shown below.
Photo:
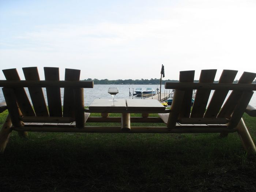
[[[256,153],[255,144],[253,143],[251,135],[242,118],[237,125],[237,132],[238,132],[238,135],[240,136],[240,139],[242,141],[242,145],[245,151]]]

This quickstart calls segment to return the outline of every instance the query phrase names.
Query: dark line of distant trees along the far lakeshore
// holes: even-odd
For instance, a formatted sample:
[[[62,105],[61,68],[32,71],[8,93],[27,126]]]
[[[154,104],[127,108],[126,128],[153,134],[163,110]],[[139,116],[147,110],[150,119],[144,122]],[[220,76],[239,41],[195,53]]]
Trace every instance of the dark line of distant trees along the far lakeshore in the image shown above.
[[[117,80],[108,80],[108,79],[84,79],[84,81],[94,81],[94,84],[160,84],[160,79],[117,79]],[[165,84],[165,82],[178,82],[178,80],[163,80],[162,79],[162,84]],[[194,80],[195,83],[199,82],[199,80]],[[237,83],[238,80],[234,80],[234,83]],[[218,81],[214,81],[214,83],[218,83]],[[256,79],[254,80],[253,83],[256,83]]]

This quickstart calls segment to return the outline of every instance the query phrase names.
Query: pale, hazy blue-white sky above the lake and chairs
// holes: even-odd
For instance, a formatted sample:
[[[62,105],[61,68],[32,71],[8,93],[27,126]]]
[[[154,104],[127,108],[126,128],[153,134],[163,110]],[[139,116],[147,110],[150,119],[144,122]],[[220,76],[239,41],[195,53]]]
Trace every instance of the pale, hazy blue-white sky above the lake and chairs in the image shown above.
[[[0,0],[0,66],[81,69],[80,79],[256,72],[256,1]],[[0,72],[0,79],[5,79]]]

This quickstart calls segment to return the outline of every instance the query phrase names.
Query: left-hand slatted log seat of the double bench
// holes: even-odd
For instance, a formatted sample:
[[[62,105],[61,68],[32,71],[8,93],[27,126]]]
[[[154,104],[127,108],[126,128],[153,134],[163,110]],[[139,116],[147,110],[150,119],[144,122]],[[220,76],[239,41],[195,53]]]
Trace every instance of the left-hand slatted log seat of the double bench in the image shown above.
[[[7,108],[9,112],[0,131],[1,153],[12,130],[26,137],[26,131],[47,127],[82,128],[89,117],[89,113],[84,113],[83,88],[93,88],[93,81],[79,81],[80,70],[65,69],[65,80],[60,81],[59,68],[56,67],[44,67],[45,80],[39,79],[37,67],[22,69],[26,80],[20,80],[16,69],[4,69],[7,80],[0,81],[6,102],[6,105],[5,102],[0,104],[0,112]],[[28,87],[33,107],[24,87]],[[48,105],[42,87],[46,87]],[[61,87],[64,88],[63,106]]]

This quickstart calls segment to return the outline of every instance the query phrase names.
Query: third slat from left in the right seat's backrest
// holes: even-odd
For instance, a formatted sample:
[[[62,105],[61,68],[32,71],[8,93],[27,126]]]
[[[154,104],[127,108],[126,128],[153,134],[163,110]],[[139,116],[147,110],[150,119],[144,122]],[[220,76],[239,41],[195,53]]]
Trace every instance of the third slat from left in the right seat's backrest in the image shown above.
[[[234,70],[223,70],[219,83],[233,83],[236,77],[237,71]],[[225,101],[225,98],[229,90],[215,90],[211,101],[207,107],[204,117],[217,117],[217,114],[221,110],[221,106]]]

